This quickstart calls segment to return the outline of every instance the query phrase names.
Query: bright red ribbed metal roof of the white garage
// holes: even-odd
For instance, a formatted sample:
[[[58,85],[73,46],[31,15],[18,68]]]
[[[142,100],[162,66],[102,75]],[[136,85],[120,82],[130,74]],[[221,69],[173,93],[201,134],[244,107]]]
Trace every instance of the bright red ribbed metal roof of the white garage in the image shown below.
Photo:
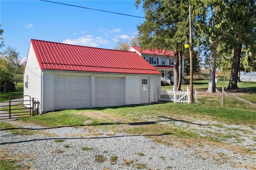
[[[136,52],[31,39],[41,69],[160,74]]]

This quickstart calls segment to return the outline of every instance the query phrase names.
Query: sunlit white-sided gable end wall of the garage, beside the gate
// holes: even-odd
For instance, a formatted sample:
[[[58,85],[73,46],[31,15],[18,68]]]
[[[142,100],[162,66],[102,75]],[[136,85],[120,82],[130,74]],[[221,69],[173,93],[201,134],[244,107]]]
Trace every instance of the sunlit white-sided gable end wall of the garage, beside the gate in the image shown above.
[[[28,76],[28,83],[26,88],[25,83],[27,81]],[[34,49],[32,44],[30,43],[28,57],[26,61],[26,67],[24,70],[24,96],[28,95],[34,100],[41,100],[41,70],[39,64],[36,59],[36,55],[34,53]],[[28,97],[24,97],[24,100],[29,100]],[[29,101],[24,102],[25,105],[29,104]],[[28,107],[28,105],[27,105]]]

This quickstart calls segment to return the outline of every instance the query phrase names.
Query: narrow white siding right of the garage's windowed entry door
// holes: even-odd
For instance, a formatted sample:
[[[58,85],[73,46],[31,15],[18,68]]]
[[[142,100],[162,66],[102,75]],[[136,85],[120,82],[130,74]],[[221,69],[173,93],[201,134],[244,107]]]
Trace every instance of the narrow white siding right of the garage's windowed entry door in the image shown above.
[[[160,76],[150,76],[150,103],[158,102],[158,88],[161,88]]]

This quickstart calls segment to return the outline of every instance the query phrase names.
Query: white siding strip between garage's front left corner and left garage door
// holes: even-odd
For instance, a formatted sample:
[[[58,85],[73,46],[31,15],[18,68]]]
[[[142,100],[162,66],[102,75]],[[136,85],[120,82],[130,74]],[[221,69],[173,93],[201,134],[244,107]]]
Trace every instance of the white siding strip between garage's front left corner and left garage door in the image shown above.
[[[42,112],[54,111],[54,72],[44,72],[42,98]]]

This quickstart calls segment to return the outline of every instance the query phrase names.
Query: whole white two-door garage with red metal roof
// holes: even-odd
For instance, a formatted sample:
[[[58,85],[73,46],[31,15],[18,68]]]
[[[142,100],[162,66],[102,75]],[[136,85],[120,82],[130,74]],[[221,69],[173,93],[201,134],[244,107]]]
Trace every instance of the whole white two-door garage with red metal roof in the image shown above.
[[[160,76],[135,52],[31,39],[24,95],[40,102],[40,113],[151,103]]]

